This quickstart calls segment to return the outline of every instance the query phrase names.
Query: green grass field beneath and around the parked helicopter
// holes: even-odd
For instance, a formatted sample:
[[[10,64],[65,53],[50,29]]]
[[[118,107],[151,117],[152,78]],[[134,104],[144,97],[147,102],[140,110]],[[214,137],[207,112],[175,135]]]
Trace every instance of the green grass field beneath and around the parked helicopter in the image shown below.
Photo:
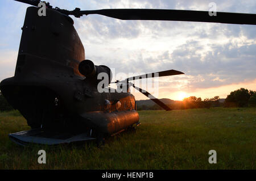
[[[139,111],[141,127],[94,142],[24,148],[8,134],[28,130],[19,112],[0,113],[0,169],[256,169],[256,108]],[[46,164],[38,150],[46,150]],[[209,150],[217,163],[208,162]]]

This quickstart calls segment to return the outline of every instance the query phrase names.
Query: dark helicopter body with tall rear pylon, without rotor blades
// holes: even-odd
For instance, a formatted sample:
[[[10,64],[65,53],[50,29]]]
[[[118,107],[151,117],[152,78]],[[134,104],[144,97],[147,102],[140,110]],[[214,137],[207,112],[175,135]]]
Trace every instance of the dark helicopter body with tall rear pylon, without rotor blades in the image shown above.
[[[36,7],[27,9],[15,75],[0,84],[8,102],[31,128],[113,134],[138,123],[132,94],[109,87],[99,92],[96,78],[80,73],[85,52],[73,20],[53,9],[46,14],[38,16]]]

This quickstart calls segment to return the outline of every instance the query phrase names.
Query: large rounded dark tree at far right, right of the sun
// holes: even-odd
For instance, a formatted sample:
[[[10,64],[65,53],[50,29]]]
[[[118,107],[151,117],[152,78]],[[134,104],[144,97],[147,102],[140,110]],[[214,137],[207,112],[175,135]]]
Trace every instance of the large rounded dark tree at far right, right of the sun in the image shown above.
[[[230,92],[230,94],[225,99],[225,106],[246,107],[248,106],[249,99],[249,91],[247,89],[241,88],[236,91]]]

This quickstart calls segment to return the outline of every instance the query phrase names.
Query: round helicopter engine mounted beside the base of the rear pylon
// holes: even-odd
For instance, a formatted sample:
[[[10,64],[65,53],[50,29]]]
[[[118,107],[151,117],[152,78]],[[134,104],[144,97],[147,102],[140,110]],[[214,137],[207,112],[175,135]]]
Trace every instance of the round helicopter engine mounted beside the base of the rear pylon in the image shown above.
[[[94,65],[90,60],[83,60],[79,64],[79,71],[86,79],[92,79],[96,83],[100,82],[102,77],[108,78],[108,83],[112,81],[112,71],[106,65]],[[101,76],[101,73],[103,76]],[[96,79],[96,80],[95,80]]]

